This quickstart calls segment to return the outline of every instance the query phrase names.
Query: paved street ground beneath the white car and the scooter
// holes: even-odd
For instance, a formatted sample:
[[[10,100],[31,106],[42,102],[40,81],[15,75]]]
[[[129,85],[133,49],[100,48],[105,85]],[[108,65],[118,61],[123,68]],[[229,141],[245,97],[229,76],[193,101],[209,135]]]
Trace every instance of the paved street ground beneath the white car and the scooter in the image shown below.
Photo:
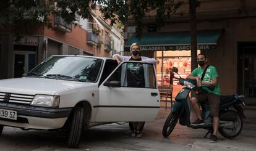
[[[169,138],[161,135],[168,110],[161,108],[155,121],[145,124],[141,139],[130,136],[128,124],[106,124],[90,128],[83,134],[79,149],[65,147],[61,131],[22,131],[4,128],[0,137],[1,150],[256,150],[256,110],[247,109],[244,129],[236,139],[225,139],[220,134],[218,143],[203,138],[204,129],[190,129],[177,125]]]

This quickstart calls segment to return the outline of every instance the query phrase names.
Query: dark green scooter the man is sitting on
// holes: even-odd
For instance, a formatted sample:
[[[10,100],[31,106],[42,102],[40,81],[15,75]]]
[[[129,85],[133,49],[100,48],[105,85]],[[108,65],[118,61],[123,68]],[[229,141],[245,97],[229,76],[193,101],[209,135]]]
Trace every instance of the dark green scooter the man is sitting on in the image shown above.
[[[177,68],[173,68],[173,72],[178,73]],[[174,77],[176,78],[176,77]],[[179,91],[177,94],[175,100],[176,102],[173,104],[173,107],[171,108],[171,113],[169,113],[168,118],[166,119],[164,126],[163,126],[163,136],[168,137],[169,134],[172,133],[174,127],[177,124],[177,121],[179,120],[179,123],[181,125],[187,126],[189,128],[203,128],[207,129],[208,132],[205,134],[205,137],[208,136],[208,134],[213,133],[213,118],[210,115],[210,107],[208,104],[201,104],[202,107],[202,118],[204,121],[204,124],[193,126],[190,123],[190,98],[189,93],[190,91],[194,90],[196,93],[202,88],[197,86],[196,80],[191,79],[184,79],[179,76],[179,78],[176,78],[179,80],[179,83],[184,86],[184,88]],[[213,86],[208,86],[208,89],[213,90]],[[244,96],[238,96],[237,94],[231,94],[229,96],[221,96],[221,103],[220,103],[220,125],[218,131],[220,134],[228,139],[234,138],[238,136],[243,128],[243,118],[245,118],[244,112],[242,110],[242,105],[245,105],[244,103]]]

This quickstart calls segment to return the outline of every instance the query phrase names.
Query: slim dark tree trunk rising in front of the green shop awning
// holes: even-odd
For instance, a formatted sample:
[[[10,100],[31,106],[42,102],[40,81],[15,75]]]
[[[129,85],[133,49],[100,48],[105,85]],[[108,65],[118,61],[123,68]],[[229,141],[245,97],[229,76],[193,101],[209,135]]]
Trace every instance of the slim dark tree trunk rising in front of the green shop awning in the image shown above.
[[[197,68],[197,18],[196,0],[189,0],[190,15],[190,46],[191,46],[191,71]]]

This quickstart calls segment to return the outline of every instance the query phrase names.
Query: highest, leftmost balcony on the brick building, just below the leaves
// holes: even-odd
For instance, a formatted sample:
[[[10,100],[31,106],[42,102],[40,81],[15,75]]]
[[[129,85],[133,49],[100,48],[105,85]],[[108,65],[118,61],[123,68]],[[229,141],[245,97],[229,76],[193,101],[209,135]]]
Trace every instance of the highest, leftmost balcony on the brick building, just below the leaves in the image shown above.
[[[54,17],[54,28],[61,30],[63,32],[71,32],[72,31],[72,23],[66,23],[65,20],[59,15],[55,15]]]

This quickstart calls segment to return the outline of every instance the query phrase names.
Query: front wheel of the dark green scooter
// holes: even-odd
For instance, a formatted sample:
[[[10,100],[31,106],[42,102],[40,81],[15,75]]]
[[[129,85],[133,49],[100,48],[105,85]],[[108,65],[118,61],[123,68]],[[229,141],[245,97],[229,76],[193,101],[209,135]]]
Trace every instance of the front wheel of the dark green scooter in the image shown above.
[[[163,126],[162,134],[164,137],[168,137],[173,132],[173,129],[176,126],[178,120],[179,120],[179,112],[169,113],[169,116],[166,119]]]

